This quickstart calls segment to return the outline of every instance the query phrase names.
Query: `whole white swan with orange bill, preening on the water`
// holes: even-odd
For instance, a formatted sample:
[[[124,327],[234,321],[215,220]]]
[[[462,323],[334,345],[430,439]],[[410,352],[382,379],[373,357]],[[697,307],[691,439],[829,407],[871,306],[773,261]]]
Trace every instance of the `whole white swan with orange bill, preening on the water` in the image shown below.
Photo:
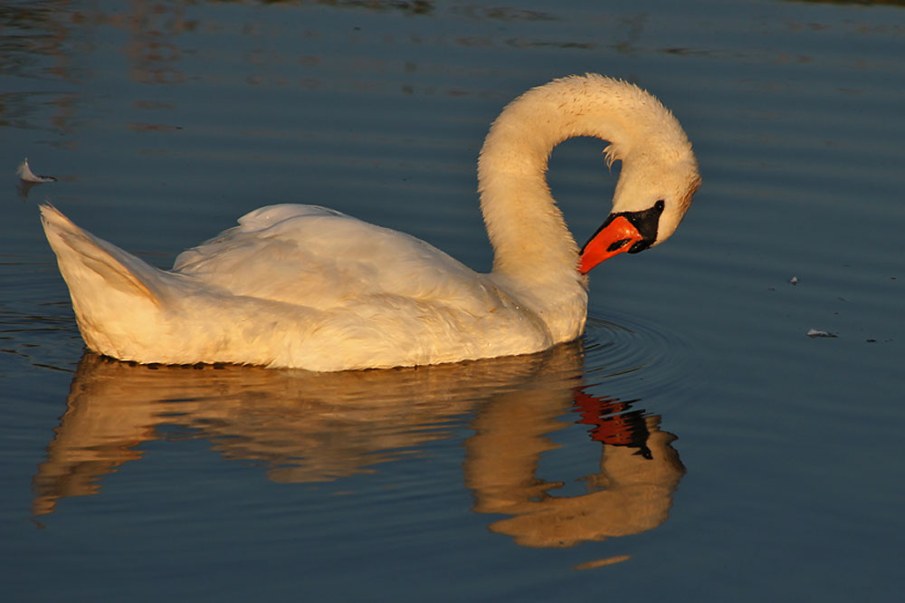
[[[546,181],[565,139],[609,142],[622,161],[612,211],[579,250]],[[632,83],[568,76],[522,94],[478,159],[494,250],[475,273],[411,235],[320,206],[274,205],[159,270],[41,215],[88,348],[138,363],[235,363],[313,371],[527,354],[584,330],[596,264],[672,235],[700,186],[679,121]]]

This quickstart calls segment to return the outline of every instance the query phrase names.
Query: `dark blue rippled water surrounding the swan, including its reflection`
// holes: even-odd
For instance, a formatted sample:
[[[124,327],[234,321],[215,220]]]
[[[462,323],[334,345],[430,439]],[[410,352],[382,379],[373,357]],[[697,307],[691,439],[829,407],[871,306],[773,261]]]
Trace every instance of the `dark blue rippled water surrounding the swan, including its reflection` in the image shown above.
[[[899,600],[902,17],[7,3],[4,599]],[[671,107],[704,186],[669,243],[595,271],[576,344],[332,376],[84,355],[38,201],[159,266],[300,201],[487,270],[488,124],[588,71]],[[580,241],[602,148],[550,163]],[[25,157],[59,180],[18,187]]]

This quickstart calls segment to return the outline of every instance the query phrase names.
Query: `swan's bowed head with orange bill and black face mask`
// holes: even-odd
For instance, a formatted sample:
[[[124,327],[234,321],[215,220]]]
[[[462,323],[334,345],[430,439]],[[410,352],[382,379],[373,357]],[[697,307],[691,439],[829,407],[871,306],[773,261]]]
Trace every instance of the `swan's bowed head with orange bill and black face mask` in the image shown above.
[[[624,160],[613,209],[582,248],[580,273],[590,272],[614,255],[637,254],[661,244],[675,232],[700,187],[698,163],[686,144],[687,153],[679,157],[652,158],[642,153]]]

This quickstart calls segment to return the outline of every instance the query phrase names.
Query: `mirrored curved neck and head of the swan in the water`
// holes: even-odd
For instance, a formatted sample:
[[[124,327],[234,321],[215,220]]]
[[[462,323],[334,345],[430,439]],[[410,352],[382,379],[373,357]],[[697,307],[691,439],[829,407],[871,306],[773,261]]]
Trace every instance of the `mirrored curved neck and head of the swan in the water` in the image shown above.
[[[582,420],[593,423],[594,439],[604,443],[600,472],[587,475],[588,493],[554,496],[562,482],[538,480],[541,455],[557,447],[548,434],[566,426],[560,415],[572,396]],[[502,394],[483,407],[465,443],[465,483],[474,510],[505,513],[491,531],[532,547],[568,547],[652,530],[665,522],[672,494],[685,468],[672,448],[675,436],[661,431],[659,416],[613,398],[595,398],[581,389]]]

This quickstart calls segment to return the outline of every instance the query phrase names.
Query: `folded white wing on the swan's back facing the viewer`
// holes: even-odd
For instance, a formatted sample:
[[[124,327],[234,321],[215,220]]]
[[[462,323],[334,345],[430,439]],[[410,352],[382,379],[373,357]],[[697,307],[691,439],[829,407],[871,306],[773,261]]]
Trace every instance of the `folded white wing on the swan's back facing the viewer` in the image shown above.
[[[236,295],[320,309],[401,296],[462,310],[505,302],[486,277],[411,235],[318,206],[257,209],[180,254],[177,273]]]

